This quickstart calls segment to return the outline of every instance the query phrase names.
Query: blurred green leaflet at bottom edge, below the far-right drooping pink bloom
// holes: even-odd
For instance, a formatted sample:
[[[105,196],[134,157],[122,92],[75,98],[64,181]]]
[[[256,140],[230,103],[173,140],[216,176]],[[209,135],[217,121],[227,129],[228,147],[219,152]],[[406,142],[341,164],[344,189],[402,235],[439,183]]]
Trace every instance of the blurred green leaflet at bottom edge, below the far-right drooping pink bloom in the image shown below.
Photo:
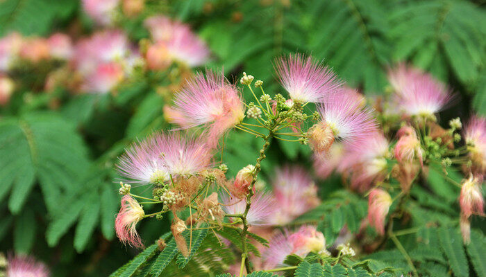
[[[467,265],[464,247],[462,247],[462,238],[458,231],[441,228],[437,230],[437,235],[440,247],[447,260],[449,260],[449,267],[454,272],[454,276],[469,276],[469,266]]]

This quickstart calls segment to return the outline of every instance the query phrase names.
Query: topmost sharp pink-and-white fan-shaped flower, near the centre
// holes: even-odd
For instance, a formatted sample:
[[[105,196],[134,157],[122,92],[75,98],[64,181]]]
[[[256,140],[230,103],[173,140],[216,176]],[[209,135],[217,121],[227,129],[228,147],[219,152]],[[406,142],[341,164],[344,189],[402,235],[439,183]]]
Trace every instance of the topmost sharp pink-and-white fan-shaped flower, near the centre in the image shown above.
[[[294,101],[324,102],[341,86],[335,73],[312,61],[312,57],[301,54],[280,57],[274,67],[280,83]]]

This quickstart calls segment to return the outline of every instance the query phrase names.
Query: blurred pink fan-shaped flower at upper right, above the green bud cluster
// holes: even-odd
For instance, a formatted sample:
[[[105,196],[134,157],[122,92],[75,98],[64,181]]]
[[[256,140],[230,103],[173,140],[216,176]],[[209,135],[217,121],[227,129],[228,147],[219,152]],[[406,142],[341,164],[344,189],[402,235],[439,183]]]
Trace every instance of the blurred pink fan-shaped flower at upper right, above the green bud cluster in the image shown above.
[[[388,78],[401,111],[408,116],[432,116],[453,98],[450,89],[432,75],[403,64],[390,70]]]

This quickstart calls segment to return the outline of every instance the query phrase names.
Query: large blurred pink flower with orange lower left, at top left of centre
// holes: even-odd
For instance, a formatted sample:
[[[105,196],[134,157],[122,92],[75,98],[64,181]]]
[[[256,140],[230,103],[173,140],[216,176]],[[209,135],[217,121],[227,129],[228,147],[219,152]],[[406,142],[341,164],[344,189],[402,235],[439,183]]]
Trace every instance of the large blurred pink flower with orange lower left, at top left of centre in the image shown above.
[[[163,16],[149,17],[145,21],[145,26],[149,28],[152,38],[156,41],[156,44],[149,48],[150,55],[147,55],[147,62],[152,63],[151,69],[165,69],[165,64],[170,64],[171,61],[181,62],[190,67],[200,66],[208,61],[208,46],[194,35],[190,26]],[[150,57],[158,57],[160,66],[156,66]]]

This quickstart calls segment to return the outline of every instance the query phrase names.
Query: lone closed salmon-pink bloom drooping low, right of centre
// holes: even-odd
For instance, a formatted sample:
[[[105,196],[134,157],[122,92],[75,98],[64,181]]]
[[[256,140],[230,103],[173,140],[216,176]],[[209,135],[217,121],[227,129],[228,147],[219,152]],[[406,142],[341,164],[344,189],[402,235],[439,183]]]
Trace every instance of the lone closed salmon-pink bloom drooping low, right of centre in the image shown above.
[[[369,193],[368,222],[380,235],[385,234],[385,219],[389,207],[392,206],[392,197],[380,188],[374,188]]]

